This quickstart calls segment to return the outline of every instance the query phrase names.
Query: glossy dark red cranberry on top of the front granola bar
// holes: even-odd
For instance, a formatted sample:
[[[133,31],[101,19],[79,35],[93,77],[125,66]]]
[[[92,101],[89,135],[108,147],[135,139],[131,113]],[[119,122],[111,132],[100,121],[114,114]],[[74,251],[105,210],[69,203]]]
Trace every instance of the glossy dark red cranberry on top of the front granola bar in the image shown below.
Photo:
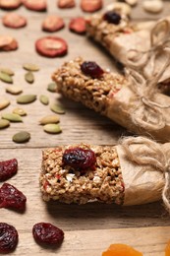
[[[68,149],[63,154],[63,164],[77,169],[86,169],[94,166],[96,161],[95,154],[91,150],[82,148]]]

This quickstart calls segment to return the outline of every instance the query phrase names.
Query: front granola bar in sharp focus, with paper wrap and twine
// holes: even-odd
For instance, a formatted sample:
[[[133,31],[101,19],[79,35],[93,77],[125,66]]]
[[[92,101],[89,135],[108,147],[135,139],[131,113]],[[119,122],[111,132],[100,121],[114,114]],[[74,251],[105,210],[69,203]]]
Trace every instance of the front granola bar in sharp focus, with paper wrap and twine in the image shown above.
[[[169,209],[169,150],[169,144],[144,137],[130,137],[117,146],[80,144],[44,150],[43,200],[140,205],[162,197]]]

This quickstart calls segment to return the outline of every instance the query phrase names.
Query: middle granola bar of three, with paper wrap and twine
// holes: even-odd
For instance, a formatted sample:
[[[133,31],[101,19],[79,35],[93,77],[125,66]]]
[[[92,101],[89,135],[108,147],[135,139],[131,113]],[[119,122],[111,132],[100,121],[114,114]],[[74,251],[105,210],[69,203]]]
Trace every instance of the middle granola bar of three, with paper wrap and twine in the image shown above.
[[[166,142],[170,140],[170,97],[157,90],[157,81],[170,62],[169,53],[164,54],[166,62],[148,80],[135,70],[127,70],[124,77],[82,58],[64,63],[52,78],[64,96],[81,101],[132,132]]]

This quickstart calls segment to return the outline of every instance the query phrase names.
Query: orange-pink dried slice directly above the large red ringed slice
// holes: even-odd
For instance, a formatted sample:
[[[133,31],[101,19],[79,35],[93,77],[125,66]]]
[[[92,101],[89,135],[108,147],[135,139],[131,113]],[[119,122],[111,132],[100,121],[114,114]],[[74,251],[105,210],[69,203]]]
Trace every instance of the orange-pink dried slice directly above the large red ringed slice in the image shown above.
[[[44,32],[58,32],[64,27],[63,19],[55,15],[47,16],[42,22],[42,30]]]

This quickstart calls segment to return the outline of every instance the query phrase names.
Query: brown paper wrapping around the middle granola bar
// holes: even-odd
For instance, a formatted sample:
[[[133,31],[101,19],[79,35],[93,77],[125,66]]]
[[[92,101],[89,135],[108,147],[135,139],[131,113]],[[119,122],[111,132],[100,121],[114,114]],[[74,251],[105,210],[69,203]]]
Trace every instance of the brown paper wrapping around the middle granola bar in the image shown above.
[[[148,126],[138,126],[133,122],[132,115],[136,111],[136,107],[141,99],[131,90],[130,87],[123,87],[115,96],[110,97],[106,107],[106,116],[120,125],[128,128],[130,131],[137,134],[147,135],[160,140],[161,142],[170,141],[170,97],[155,93],[154,102],[161,105],[169,105],[167,108],[161,108],[162,118],[164,119],[164,126],[160,129],[152,129]],[[149,109],[145,108],[146,111]],[[137,110],[138,111],[138,110]],[[142,107],[139,108],[139,117],[142,118]],[[149,115],[149,112],[147,113]],[[157,117],[158,113],[155,113]],[[155,124],[156,123],[155,119]]]

